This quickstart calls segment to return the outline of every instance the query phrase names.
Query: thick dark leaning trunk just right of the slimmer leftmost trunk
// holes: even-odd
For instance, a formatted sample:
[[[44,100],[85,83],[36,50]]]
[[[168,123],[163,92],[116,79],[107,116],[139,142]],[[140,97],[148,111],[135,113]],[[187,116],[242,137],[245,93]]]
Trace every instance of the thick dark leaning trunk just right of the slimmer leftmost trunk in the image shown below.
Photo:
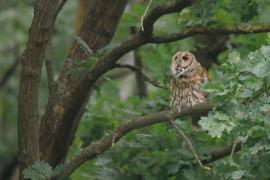
[[[94,52],[111,41],[126,3],[126,0],[89,2],[78,36]],[[94,83],[84,72],[79,78],[70,74],[86,57],[87,53],[74,41],[42,118],[41,153],[52,165],[64,161]]]

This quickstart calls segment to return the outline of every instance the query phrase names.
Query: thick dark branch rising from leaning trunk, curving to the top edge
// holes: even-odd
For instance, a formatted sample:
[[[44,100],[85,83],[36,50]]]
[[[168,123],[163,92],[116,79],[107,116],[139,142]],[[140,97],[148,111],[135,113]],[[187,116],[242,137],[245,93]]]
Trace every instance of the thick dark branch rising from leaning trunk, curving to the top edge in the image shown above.
[[[143,20],[144,30],[131,36],[126,41],[122,42],[119,46],[110,51],[102,60],[90,71],[89,75],[92,79],[99,78],[103,73],[114,67],[114,63],[118,61],[124,54],[136,49],[146,43],[151,42],[154,23],[163,15],[173,12],[182,11],[187,6],[193,3],[192,0],[175,0],[165,3],[162,6],[153,8]]]

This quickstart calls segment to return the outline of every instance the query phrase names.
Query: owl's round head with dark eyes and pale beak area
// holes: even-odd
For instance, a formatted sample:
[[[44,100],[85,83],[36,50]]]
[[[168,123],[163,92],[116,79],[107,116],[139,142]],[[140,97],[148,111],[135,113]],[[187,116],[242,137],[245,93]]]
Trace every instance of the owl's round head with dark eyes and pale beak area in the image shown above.
[[[197,64],[193,54],[188,51],[178,51],[172,57],[171,71],[177,78],[187,78]]]

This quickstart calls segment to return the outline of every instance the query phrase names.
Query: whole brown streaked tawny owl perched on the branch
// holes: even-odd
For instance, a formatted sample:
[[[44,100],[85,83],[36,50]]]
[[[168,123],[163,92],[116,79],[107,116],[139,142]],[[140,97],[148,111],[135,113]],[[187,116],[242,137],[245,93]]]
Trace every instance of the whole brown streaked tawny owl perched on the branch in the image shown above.
[[[208,81],[207,71],[188,51],[178,51],[172,57],[171,107],[178,112],[207,100],[200,85]]]

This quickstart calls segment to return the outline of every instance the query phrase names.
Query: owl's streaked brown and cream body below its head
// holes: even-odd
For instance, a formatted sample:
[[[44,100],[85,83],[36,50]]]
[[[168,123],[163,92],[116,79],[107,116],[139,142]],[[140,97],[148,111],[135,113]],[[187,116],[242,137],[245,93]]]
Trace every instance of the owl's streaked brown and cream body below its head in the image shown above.
[[[200,85],[206,81],[208,81],[208,75],[204,69],[187,77],[173,77],[170,84],[171,107],[180,112],[184,107],[205,102],[207,94],[201,90]]]

